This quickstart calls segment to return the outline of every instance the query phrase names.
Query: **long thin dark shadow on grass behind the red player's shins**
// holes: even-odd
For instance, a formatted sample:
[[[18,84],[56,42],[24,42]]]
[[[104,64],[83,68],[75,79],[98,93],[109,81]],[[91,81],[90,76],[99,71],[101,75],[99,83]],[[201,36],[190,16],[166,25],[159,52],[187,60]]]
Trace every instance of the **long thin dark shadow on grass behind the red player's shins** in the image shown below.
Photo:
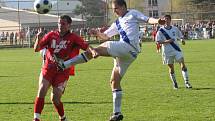
[[[109,103],[112,103],[112,102],[63,102],[63,104],[88,104],[88,105],[97,105],[97,104],[109,104]],[[0,105],[28,105],[28,104],[34,104],[34,102],[0,102]],[[45,104],[48,104],[48,105],[52,105],[51,102],[47,102]]]

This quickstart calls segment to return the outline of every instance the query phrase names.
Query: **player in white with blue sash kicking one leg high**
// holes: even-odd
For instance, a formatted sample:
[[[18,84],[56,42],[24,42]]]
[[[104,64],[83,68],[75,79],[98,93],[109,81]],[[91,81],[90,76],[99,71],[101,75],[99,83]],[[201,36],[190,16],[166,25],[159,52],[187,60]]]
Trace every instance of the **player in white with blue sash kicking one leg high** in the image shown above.
[[[113,114],[110,117],[110,121],[120,121],[123,119],[121,113],[122,88],[120,81],[140,52],[139,21],[151,24],[164,24],[165,21],[149,18],[137,10],[127,10],[125,0],[113,0],[112,8],[118,19],[104,33],[96,29],[91,30],[91,32],[102,40],[109,40],[112,36],[119,34],[120,40],[106,41],[91,52],[85,51],[68,61],[59,61],[58,63],[60,67],[68,68],[71,65],[85,63],[91,58],[97,58],[98,56],[112,57],[114,59],[114,67],[110,78],[110,85],[113,95]],[[55,60],[58,61],[58,59]]]

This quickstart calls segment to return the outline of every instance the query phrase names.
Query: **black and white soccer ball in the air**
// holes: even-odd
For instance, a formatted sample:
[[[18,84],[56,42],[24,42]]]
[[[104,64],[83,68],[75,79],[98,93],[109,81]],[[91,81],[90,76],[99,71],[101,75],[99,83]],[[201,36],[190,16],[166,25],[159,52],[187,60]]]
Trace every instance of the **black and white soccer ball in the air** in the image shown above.
[[[34,10],[39,14],[46,14],[52,8],[52,3],[50,0],[35,0]]]

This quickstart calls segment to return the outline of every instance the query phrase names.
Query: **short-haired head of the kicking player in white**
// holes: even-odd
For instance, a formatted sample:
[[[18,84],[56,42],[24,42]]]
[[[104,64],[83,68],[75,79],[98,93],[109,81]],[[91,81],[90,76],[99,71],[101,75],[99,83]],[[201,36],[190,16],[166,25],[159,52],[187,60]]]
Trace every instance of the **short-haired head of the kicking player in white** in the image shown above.
[[[127,4],[125,0],[113,0],[112,8],[113,8],[113,12],[117,16],[123,16],[127,12]]]

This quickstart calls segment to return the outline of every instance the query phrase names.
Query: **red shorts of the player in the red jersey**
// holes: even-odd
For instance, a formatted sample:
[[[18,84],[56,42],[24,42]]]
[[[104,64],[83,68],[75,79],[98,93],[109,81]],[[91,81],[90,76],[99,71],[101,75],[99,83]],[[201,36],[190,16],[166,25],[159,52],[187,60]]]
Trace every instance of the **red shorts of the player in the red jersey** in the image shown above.
[[[52,86],[60,86],[69,79],[69,70],[57,71],[56,69],[42,69],[43,77],[48,80]]]

